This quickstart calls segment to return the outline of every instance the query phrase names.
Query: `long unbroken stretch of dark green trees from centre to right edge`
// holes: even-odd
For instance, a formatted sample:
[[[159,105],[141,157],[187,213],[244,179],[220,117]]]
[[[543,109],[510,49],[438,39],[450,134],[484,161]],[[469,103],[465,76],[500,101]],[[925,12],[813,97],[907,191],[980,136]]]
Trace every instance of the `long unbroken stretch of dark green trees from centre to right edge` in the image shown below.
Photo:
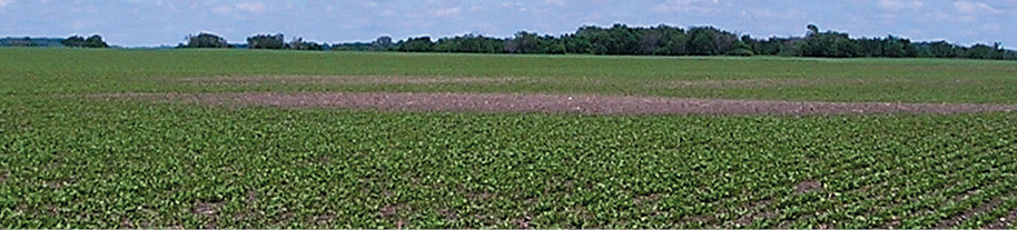
[[[852,39],[848,33],[820,31],[809,24],[806,37],[753,39],[713,27],[681,28],[661,24],[640,28],[613,24],[610,28],[584,26],[575,33],[561,37],[520,31],[512,38],[497,39],[477,34],[442,38],[411,38],[401,42],[398,51],[409,52],[480,52],[480,53],[585,53],[640,56],[796,56],[821,58],[974,58],[1017,60],[1014,51],[985,44],[964,48],[938,41],[912,43],[908,39]],[[367,43],[347,43],[343,50],[384,50]],[[372,44],[373,46],[373,44]],[[498,48],[502,49],[498,49]]]

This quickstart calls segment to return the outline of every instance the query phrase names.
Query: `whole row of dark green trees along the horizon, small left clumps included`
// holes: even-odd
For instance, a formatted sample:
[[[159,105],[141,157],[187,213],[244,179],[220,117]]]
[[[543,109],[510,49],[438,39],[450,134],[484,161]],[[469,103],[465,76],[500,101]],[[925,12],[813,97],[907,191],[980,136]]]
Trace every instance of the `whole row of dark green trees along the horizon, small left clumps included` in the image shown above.
[[[1003,49],[1000,43],[971,47],[946,41],[912,42],[909,39],[851,38],[846,32],[820,31],[809,24],[802,37],[767,39],[739,36],[714,27],[688,29],[661,24],[656,27],[584,26],[563,36],[520,31],[510,38],[464,34],[437,40],[431,37],[394,41],[381,37],[372,42],[318,43],[295,38],[286,41],[282,33],[256,34],[246,43],[228,43],[214,33],[187,36],[177,48],[241,48],[290,50],[401,51],[401,52],[468,52],[468,53],[542,53],[542,54],[623,54],[623,56],[787,56],[822,58],[969,58],[1017,60],[1017,51]],[[28,38],[26,38],[28,39]],[[30,40],[11,40],[23,44]],[[98,34],[88,38],[72,36],[60,41],[66,47],[108,48]]]

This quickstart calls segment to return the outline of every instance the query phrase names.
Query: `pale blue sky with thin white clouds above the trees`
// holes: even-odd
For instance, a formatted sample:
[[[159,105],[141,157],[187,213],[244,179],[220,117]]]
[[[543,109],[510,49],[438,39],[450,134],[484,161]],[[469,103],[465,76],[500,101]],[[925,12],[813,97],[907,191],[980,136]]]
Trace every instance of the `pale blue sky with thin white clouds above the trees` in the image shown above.
[[[115,46],[175,46],[213,32],[317,42],[381,36],[560,36],[581,26],[713,26],[756,38],[820,30],[851,37],[1017,48],[1017,0],[0,0],[0,37],[101,34]]]

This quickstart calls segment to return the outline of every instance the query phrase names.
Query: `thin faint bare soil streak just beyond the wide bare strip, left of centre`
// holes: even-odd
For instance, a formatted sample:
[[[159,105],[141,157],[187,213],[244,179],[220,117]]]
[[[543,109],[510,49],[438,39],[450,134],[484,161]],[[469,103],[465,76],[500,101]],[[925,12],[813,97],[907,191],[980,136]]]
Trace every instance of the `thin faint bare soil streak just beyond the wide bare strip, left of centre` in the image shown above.
[[[174,79],[197,86],[251,86],[279,83],[308,84],[428,84],[428,83],[510,83],[519,78],[453,78],[395,76],[244,76]]]

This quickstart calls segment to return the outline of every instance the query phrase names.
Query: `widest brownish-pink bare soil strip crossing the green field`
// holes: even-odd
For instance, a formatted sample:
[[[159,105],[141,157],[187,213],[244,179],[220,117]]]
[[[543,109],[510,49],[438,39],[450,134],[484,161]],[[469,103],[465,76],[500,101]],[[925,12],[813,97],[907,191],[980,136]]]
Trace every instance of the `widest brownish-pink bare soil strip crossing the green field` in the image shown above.
[[[89,94],[87,98],[188,102],[208,106],[585,114],[947,114],[1017,111],[1017,104],[761,101],[594,94],[244,92],[102,93]]]

